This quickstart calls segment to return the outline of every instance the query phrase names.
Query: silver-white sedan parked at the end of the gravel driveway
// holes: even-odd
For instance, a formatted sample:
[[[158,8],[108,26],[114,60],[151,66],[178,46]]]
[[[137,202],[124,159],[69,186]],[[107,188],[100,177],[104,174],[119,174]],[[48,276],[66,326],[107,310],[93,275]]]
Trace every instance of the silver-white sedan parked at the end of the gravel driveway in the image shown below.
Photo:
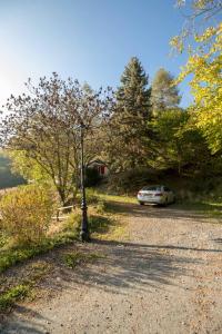
[[[167,205],[175,202],[175,194],[165,186],[157,185],[143,187],[138,193],[138,202],[140,205],[159,204]]]

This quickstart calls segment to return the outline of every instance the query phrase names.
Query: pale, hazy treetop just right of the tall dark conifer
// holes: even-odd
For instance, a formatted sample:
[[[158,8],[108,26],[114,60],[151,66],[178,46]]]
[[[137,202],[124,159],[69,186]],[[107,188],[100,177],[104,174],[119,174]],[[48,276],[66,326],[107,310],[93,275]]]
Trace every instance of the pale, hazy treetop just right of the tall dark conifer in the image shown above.
[[[181,97],[178,87],[173,85],[173,79],[164,68],[160,68],[155,73],[151,90],[153,115],[178,107]]]

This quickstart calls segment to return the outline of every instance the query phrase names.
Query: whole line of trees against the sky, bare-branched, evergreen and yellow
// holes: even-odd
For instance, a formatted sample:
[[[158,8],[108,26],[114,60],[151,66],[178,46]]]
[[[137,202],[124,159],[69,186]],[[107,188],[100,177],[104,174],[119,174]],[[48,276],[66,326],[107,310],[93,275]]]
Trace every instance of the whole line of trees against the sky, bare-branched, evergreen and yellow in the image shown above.
[[[216,3],[193,0],[192,20],[220,10]],[[181,51],[186,36],[183,31],[171,45]],[[94,91],[57,73],[40,78],[38,86],[29,80],[27,94],[9,98],[0,125],[2,147],[16,170],[28,179],[50,179],[65,204],[79,187],[79,127],[84,124],[85,165],[100,158],[112,174],[143,167],[192,177],[220,174],[222,26],[193,38],[204,49],[190,52],[176,79],[161,68],[149,85],[140,60],[132,57],[115,90]],[[182,109],[178,84],[189,73],[194,102]]]

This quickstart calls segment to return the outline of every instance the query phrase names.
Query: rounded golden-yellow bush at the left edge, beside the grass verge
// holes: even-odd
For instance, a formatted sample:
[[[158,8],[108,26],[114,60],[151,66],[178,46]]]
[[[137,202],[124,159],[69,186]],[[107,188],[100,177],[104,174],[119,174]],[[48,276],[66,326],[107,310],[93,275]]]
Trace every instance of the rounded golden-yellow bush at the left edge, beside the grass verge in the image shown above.
[[[0,228],[19,245],[38,243],[48,230],[54,208],[53,193],[42,186],[23,186],[0,202]]]

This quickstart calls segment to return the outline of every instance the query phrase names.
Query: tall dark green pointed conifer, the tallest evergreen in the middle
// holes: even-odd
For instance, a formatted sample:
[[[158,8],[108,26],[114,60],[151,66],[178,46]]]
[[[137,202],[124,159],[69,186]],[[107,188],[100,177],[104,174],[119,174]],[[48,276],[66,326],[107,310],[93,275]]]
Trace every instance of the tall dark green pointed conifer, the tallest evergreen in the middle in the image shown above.
[[[112,116],[109,151],[115,168],[133,168],[142,164],[150,117],[148,76],[137,57],[131,58],[117,91],[117,108]],[[113,140],[115,138],[115,140]],[[117,166],[118,165],[118,166]]]

